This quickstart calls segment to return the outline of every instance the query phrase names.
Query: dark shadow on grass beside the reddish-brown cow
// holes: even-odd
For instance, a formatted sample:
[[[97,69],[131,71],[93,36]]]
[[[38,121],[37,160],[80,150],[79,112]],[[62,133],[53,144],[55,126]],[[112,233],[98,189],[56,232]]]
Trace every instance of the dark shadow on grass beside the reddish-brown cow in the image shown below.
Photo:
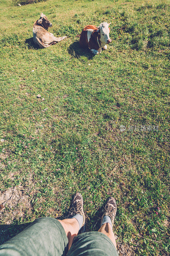
[[[89,49],[82,49],[79,45],[79,41],[76,41],[68,47],[68,53],[74,58],[79,58],[80,56],[87,57],[88,60],[93,59],[95,55],[93,55]]]

